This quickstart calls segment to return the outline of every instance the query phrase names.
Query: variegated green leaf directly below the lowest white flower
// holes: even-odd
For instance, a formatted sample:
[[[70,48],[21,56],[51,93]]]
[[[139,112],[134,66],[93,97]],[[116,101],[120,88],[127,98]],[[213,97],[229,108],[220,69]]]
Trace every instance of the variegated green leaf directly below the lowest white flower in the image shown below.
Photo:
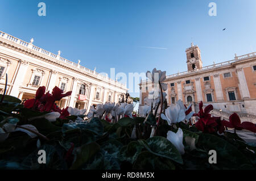
[[[183,164],[183,159],[172,143],[164,137],[154,136],[147,139],[147,145],[144,144],[146,149],[151,153],[160,157],[172,159],[173,161]]]

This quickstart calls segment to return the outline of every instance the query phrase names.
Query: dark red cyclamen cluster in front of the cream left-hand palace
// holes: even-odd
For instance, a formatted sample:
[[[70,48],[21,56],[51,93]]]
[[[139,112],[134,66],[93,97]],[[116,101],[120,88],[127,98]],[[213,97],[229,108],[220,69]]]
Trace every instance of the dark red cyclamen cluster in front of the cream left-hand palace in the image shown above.
[[[60,118],[64,118],[69,115],[68,107],[61,110],[56,106],[55,101],[64,98],[65,96],[71,95],[72,91],[63,94],[63,90],[55,86],[52,89],[52,94],[49,91],[46,92],[46,87],[39,87],[36,91],[35,99],[28,99],[24,102],[24,107],[28,109],[33,109],[40,112],[59,112]]]

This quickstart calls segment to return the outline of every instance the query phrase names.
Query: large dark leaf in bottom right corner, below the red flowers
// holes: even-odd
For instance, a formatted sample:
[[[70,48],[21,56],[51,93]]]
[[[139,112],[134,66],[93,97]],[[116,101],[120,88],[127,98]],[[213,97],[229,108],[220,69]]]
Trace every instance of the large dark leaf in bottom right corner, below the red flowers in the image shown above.
[[[221,169],[253,169],[249,159],[242,154],[235,146],[213,134],[201,133],[199,146],[206,151],[216,150],[217,164]]]

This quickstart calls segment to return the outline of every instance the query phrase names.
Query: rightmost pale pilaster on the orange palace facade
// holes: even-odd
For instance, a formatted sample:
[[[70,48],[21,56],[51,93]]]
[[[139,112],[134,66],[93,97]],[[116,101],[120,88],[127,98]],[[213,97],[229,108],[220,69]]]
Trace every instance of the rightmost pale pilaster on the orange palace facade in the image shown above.
[[[241,92],[242,99],[250,99],[250,92],[247,87],[245,74],[242,68],[237,68],[238,86]]]

